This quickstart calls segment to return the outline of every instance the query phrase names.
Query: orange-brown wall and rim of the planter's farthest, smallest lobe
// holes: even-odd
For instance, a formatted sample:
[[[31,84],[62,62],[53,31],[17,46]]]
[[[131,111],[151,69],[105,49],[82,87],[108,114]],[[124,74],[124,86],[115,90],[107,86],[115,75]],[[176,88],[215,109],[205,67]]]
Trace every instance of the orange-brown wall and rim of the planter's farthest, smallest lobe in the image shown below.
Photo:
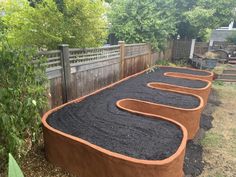
[[[168,67],[168,66],[165,66]],[[173,67],[170,67],[173,68]],[[182,77],[182,78],[196,78],[196,79],[203,79],[203,80],[208,80],[212,82],[214,73],[206,70],[200,70],[200,69],[193,69],[193,68],[184,68],[184,67],[176,67],[176,68],[182,68],[182,69],[188,69],[192,71],[202,71],[206,73],[206,75],[197,75],[197,74],[187,74],[187,73],[181,73],[181,72],[166,72],[164,73],[165,76],[177,76],[177,77]]]

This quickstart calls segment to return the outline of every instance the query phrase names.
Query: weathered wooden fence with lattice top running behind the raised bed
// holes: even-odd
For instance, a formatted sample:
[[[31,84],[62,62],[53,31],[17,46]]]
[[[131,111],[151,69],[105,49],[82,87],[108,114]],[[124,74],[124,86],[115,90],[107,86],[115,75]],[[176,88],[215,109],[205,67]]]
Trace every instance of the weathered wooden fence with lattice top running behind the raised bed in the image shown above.
[[[125,44],[40,52],[48,59],[51,108],[84,96],[154,65],[158,59],[171,59],[172,43],[167,50],[152,53],[148,44]]]

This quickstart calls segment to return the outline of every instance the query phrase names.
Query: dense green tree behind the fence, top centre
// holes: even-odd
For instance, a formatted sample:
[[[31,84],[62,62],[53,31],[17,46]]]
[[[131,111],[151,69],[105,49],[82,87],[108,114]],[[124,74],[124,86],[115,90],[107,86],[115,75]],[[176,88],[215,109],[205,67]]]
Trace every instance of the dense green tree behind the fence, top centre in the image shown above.
[[[175,33],[172,0],[115,0],[111,6],[111,31],[120,40],[150,42],[161,49]]]

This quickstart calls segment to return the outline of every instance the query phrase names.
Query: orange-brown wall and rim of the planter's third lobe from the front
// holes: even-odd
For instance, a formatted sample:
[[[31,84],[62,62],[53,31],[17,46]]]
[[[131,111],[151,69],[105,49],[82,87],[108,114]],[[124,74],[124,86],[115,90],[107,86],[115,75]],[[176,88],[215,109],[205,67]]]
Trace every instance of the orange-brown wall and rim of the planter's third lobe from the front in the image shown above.
[[[194,79],[194,78],[188,78],[190,80],[199,80],[199,79]],[[161,82],[151,82],[148,83],[148,87],[150,88],[156,88],[156,89],[165,89],[165,90],[170,90],[170,91],[182,91],[186,93],[191,93],[198,95],[203,98],[204,102],[204,107],[207,105],[208,102],[208,97],[211,92],[211,85],[212,83],[207,80],[200,80],[203,82],[206,82],[207,85],[203,88],[192,88],[192,87],[183,87],[183,86],[178,86],[178,85],[172,85],[172,84],[167,84],[167,83],[161,83]]]

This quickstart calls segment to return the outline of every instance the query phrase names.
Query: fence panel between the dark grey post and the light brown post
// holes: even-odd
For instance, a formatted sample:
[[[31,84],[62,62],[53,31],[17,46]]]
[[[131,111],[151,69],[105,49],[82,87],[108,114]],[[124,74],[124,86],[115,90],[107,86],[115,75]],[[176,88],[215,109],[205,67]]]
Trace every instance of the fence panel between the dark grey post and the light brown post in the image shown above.
[[[84,96],[119,80],[120,46],[70,49],[71,97]]]

